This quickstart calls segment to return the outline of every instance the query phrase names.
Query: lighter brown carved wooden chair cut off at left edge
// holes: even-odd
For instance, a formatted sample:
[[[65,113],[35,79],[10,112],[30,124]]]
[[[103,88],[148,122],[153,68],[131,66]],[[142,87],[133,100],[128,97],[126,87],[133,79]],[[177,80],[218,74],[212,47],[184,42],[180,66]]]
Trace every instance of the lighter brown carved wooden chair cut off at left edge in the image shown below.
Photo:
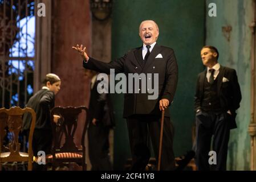
[[[32,115],[32,121],[29,133],[29,151],[21,152],[18,137],[22,129],[22,116],[24,113],[29,112]],[[11,107],[11,109],[0,109],[0,170],[2,163],[5,162],[28,162],[28,170],[32,170],[32,136],[35,129],[35,111],[29,107],[21,109],[21,107]],[[7,129],[7,130],[6,130]],[[11,140],[7,147],[3,146],[3,138],[10,132]]]

